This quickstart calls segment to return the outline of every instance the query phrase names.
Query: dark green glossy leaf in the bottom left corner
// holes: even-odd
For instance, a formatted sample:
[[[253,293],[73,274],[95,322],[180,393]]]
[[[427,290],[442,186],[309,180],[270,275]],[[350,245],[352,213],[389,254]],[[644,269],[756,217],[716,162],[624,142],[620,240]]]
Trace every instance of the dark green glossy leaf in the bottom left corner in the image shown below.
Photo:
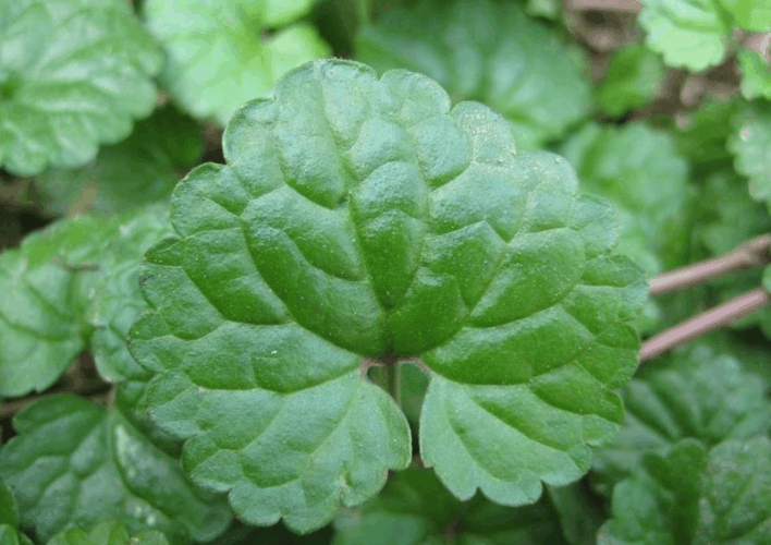
[[[41,540],[115,519],[133,533],[159,530],[183,544],[212,538],[231,520],[223,498],[194,488],[179,461],[114,408],[48,396],[13,426],[19,435],[0,450],[0,476],[16,493],[22,524]]]

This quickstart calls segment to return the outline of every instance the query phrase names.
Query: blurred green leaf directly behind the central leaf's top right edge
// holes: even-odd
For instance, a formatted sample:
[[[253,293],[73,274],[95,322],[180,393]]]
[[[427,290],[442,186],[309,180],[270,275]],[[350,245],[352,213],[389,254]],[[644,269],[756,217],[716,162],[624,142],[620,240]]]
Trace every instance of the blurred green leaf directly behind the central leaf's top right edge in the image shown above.
[[[590,109],[577,55],[513,2],[439,0],[387,12],[362,28],[357,59],[439,82],[453,101],[486,102],[509,119],[522,148],[562,136]]]

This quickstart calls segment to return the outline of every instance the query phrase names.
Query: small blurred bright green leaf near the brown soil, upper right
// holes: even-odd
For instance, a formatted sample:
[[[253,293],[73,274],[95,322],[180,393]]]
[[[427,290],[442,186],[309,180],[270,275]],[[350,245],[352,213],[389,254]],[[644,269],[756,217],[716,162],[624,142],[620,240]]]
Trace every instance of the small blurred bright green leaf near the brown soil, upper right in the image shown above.
[[[650,102],[663,78],[664,66],[654,52],[642,46],[619,49],[597,87],[597,104],[610,116],[621,117]]]

